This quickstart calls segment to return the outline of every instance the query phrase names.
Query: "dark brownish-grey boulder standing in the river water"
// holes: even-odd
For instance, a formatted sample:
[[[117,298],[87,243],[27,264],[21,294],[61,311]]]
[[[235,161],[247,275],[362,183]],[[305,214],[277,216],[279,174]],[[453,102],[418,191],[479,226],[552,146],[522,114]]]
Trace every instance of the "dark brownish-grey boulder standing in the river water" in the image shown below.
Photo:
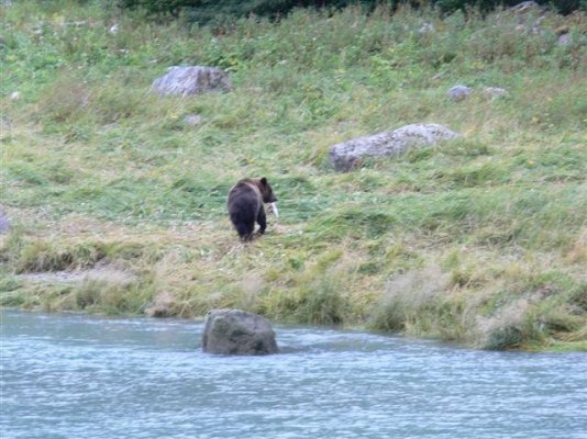
[[[262,356],[277,352],[275,333],[266,318],[241,309],[212,309],[206,316],[204,352]]]

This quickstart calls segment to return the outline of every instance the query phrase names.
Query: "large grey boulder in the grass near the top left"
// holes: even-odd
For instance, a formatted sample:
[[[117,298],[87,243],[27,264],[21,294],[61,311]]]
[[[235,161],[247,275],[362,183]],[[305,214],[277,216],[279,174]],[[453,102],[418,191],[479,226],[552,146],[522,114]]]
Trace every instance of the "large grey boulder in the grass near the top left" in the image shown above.
[[[208,91],[229,91],[232,85],[224,70],[214,67],[178,67],[174,66],[169,71],[155,79],[151,88],[162,95],[191,95]]]

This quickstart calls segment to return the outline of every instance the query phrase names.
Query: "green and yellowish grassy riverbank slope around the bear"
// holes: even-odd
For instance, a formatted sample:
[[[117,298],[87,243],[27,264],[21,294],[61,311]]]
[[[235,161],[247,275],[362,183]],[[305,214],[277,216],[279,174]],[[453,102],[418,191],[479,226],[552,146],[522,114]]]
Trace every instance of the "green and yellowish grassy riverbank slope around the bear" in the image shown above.
[[[1,14],[2,306],[235,306],[587,349],[584,14],[547,14],[536,32],[534,13],[298,11],[221,33],[91,1]],[[173,65],[229,69],[234,90],[149,93]],[[475,91],[452,102],[456,83]],[[339,142],[416,122],[463,138],[350,173],[328,165]],[[280,200],[248,247],[225,213],[244,176],[266,176]],[[80,270],[91,275],[62,272]]]

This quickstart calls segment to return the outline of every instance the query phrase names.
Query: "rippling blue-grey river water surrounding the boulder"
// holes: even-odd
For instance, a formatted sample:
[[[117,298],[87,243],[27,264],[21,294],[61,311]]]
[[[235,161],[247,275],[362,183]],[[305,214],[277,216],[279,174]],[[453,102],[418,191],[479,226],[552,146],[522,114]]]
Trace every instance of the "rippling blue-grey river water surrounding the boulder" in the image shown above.
[[[1,313],[0,437],[587,438],[587,354],[276,326],[201,351],[201,322]]]

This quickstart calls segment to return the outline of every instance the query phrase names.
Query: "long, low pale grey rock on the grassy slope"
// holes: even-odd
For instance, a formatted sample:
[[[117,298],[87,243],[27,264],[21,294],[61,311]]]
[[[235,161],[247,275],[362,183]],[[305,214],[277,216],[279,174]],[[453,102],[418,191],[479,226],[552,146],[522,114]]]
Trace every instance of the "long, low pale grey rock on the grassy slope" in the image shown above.
[[[434,145],[458,134],[439,124],[412,124],[401,128],[357,137],[330,148],[329,159],[337,171],[353,169],[362,158],[392,157],[413,147]]]

